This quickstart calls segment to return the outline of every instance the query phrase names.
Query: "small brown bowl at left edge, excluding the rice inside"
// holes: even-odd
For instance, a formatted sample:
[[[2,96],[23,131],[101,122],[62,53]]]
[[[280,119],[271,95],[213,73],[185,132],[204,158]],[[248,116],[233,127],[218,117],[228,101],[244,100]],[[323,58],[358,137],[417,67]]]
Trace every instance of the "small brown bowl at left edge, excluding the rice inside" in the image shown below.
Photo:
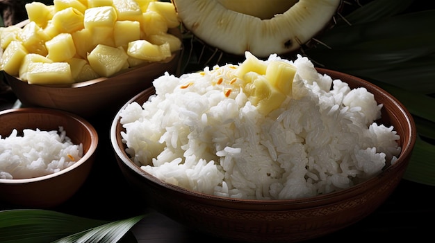
[[[47,108],[19,108],[0,111],[1,138],[13,129],[58,130],[62,126],[72,143],[83,144],[83,156],[73,165],[42,177],[0,179],[0,204],[51,208],[67,201],[88,178],[95,160],[98,134],[83,118],[66,111]],[[1,163],[1,161],[0,161]]]

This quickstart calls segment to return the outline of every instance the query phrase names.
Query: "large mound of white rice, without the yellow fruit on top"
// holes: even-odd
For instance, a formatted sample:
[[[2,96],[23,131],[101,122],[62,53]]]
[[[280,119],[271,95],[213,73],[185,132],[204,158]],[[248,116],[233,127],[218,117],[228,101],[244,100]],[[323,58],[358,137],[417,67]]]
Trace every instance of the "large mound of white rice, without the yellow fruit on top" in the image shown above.
[[[241,199],[349,188],[397,159],[400,136],[374,122],[382,105],[372,93],[321,75],[301,55],[295,61],[270,55],[264,62],[271,60],[293,64],[297,73],[292,96],[267,116],[229,84],[237,65],[180,78],[165,73],[154,81],[156,95],[120,113],[126,152],[159,179]]]

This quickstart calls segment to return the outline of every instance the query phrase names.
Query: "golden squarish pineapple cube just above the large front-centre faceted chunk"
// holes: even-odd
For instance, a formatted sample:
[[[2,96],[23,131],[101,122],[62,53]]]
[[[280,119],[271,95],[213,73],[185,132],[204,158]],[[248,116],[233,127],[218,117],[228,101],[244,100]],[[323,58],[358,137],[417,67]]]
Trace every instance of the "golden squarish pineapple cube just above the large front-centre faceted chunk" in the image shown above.
[[[138,21],[116,21],[113,26],[115,46],[127,46],[129,42],[140,39],[140,23]]]

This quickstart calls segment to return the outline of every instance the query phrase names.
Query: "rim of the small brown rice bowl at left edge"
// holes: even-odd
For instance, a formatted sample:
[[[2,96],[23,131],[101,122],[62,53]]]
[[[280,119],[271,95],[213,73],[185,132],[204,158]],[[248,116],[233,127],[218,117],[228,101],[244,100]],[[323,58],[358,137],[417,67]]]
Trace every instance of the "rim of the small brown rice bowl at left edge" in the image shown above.
[[[54,114],[56,116],[64,116],[64,117],[68,117],[69,119],[75,120],[82,127],[85,128],[86,132],[88,132],[90,134],[90,137],[91,137],[90,147],[89,147],[88,151],[85,152],[85,154],[83,154],[81,159],[79,159],[78,161],[76,161],[76,163],[70,165],[69,167],[67,167],[63,170],[60,170],[58,172],[54,172],[51,174],[46,174],[46,175],[41,176],[41,177],[24,178],[24,179],[0,179],[0,183],[4,183],[4,184],[34,183],[37,181],[44,181],[47,179],[51,179],[53,177],[58,177],[61,174],[65,174],[71,170],[74,170],[75,168],[78,168],[80,165],[82,165],[83,163],[88,161],[93,154],[95,154],[95,151],[97,150],[99,136],[98,136],[98,133],[97,133],[97,130],[95,129],[95,127],[90,122],[88,122],[88,120],[85,120],[81,116],[78,116],[76,114],[72,114],[68,111],[51,109],[51,108],[44,108],[44,107],[20,107],[20,108],[6,109],[3,111],[0,111],[0,116],[2,116],[4,114],[24,114],[24,113],[26,113],[26,114],[31,114],[31,113],[33,113],[33,114],[48,114],[49,113],[49,114]]]

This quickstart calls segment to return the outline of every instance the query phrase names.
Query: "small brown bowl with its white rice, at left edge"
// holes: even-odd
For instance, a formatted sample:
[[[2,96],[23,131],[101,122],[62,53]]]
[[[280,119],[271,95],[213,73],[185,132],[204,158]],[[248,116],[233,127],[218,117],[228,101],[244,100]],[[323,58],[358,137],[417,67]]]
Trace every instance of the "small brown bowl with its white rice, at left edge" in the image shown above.
[[[0,204],[53,208],[88,178],[98,134],[87,120],[48,108],[0,111]]]

